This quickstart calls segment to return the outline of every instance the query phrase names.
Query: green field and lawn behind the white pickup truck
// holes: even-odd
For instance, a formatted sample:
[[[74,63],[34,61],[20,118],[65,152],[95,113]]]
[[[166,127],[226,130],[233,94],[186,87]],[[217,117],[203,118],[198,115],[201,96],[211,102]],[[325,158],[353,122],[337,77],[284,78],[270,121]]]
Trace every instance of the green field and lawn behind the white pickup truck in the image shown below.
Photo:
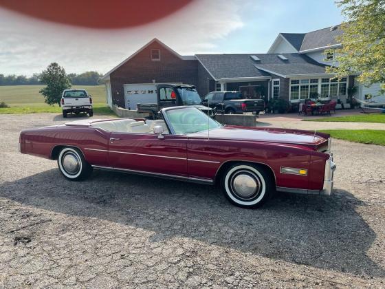
[[[0,103],[5,102],[10,108],[0,108],[0,114],[36,114],[43,112],[61,113],[58,105],[47,105],[39,94],[43,85],[10,85],[0,86]],[[115,115],[107,107],[106,92],[103,85],[74,85],[73,88],[84,88],[92,96],[94,114]]]

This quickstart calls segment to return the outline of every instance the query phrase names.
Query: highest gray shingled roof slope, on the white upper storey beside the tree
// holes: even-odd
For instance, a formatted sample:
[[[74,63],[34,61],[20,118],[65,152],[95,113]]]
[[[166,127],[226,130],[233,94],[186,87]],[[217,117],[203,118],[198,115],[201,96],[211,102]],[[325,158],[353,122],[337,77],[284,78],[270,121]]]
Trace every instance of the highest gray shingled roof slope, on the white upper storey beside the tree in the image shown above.
[[[309,32],[305,35],[300,51],[325,47],[329,45],[339,44],[336,37],[342,34],[340,25],[336,25],[336,30],[330,30],[330,27],[321,30]]]

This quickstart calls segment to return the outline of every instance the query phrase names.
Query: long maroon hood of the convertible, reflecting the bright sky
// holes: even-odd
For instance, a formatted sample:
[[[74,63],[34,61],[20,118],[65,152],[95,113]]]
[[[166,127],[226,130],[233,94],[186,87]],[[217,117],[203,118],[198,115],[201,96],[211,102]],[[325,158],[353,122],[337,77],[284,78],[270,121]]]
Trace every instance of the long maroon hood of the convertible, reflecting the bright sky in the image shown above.
[[[208,131],[190,133],[188,137],[208,137]],[[300,144],[318,149],[327,144],[327,133],[314,133],[298,129],[274,129],[266,127],[238,127],[225,125],[210,130],[210,139],[249,140],[258,142],[274,142],[280,144]]]

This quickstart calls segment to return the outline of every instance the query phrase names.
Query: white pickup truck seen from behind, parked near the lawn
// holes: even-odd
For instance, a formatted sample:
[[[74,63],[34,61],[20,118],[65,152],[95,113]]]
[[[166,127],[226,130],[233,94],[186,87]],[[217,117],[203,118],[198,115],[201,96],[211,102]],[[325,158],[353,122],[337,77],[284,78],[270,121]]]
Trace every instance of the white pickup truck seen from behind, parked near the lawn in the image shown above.
[[[63,118],[67,118],[67,114],[80,114],[80,112],[85,112],[89,116],[94,115],[92,98],[85,89],[65,89],[61,96],[61,107]]]

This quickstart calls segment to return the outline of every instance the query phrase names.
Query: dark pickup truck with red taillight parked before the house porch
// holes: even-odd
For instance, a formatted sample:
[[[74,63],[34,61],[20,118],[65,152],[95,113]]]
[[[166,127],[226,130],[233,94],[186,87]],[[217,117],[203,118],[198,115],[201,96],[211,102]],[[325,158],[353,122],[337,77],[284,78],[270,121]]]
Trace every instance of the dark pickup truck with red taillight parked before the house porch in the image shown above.
[[[202,105],[216,109],[221,114],[260,114],[265,111],[265,100],[243,99],[241,92],[210,92],[203,98]]]

